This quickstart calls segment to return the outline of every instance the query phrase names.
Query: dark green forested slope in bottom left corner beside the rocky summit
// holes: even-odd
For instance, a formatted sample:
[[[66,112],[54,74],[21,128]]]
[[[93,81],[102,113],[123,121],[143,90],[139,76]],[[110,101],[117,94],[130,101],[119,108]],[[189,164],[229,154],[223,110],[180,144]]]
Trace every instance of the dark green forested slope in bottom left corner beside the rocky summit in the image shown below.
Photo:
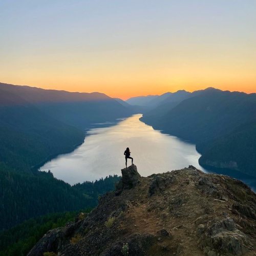
[[[90,212],[90,208],[79,212]],[[48,214],[0,232],[0,256],[25,256],[35,243],[51,229],[74,221],[78,211]]]

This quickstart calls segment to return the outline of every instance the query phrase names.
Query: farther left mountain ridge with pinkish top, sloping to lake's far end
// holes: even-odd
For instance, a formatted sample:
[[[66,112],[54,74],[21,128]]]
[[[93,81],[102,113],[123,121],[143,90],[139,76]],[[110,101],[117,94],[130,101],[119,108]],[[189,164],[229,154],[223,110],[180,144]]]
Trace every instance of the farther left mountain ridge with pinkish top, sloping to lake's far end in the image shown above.
[[[136,108],[124,106],[103,93],[72,93],[5,83],[0,83],[0,88],[30,102],[42,113],[82,130],[91,123],[138,113]]]

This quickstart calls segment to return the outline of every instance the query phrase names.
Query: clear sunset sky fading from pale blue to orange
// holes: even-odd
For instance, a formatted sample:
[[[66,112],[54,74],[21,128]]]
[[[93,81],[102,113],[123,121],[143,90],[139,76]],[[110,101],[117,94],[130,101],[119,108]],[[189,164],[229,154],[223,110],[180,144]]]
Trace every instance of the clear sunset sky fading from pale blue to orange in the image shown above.
[[[0,19],[0,82],[256,92],[255,0],[2,0]]]

